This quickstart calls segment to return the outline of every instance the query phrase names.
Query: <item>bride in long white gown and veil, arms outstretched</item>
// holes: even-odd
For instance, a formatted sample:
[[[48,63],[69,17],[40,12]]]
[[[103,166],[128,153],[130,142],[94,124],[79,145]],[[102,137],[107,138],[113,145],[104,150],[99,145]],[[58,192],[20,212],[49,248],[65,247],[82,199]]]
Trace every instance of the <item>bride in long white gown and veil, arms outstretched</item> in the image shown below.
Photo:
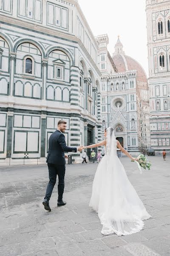
[[[105,129],[106,140],[83,148],[105,146],[105,156],[94,177],[90,207],[98,212],[102,234],[130,235],[142,230],[143,220],[150,218],[142,201],[127,178],[117,147],[127,157],[133,158],[116,140],[112,127]]]

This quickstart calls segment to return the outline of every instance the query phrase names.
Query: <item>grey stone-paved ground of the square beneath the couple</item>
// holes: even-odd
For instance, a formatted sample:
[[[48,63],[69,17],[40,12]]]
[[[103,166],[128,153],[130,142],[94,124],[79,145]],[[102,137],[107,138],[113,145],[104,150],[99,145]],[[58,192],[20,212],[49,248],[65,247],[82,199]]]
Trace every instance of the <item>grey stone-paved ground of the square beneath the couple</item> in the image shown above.
[[[103,236],[97,214],[88,207],[97,163],[67,166],[64,199],[57,186],[46,212],[42,199],[46,165],[0,167],[0,256],[170,256],[170,160],[149,157],[142,175],[136,163],[121,159],[128,178],[152,215],[130,236]]]

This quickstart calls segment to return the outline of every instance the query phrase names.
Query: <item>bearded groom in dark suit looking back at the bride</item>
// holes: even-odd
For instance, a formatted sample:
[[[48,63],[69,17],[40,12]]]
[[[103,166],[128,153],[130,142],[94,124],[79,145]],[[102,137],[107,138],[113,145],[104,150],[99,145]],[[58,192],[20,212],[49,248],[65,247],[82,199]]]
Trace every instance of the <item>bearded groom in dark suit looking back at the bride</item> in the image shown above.
[[[67,127],[67,122],[64,120],[60,120],[58,122],[57,130],[51,134],[48,140],[48,156],[47,156],[47,164],[48,164],[48,172],[49,172],[49,183],[47,186],[45,198],[42,202],[45,210],[51,211],[49,200],[51,198],[52,191],[54,189],[54,185],[56,183],[56,178],[58,175],[58,201],[57,206],[65,205],[66,202],[62,200],[62,195],[64,192],[64,176],[65,176],[65,158],[68,158],[64,154],[64,152],[77,152],[82,151],[82,146],[78,148],[70,148],[66,145],[65,136],[62,132],[65,132]]]

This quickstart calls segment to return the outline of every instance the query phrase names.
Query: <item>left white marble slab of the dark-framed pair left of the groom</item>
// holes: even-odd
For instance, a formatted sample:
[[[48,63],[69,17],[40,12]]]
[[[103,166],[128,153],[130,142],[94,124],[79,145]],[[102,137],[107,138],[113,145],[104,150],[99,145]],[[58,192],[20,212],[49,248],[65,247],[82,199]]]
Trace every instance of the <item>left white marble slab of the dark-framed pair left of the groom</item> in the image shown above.
[[[15,132],[14,151],[26,152],[26,132]]]

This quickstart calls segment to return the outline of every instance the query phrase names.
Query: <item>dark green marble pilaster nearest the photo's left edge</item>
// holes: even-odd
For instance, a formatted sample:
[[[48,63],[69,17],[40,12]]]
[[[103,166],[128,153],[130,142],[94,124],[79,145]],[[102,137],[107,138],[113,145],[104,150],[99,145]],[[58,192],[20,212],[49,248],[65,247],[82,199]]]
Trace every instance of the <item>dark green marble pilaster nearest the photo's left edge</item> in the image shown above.
[[[12,131],[13,131],[13,116],[14,116],[13,111],[14,111],[13,108],[8,108],[6,158],[11,157],[11,151],[12,151]]]

